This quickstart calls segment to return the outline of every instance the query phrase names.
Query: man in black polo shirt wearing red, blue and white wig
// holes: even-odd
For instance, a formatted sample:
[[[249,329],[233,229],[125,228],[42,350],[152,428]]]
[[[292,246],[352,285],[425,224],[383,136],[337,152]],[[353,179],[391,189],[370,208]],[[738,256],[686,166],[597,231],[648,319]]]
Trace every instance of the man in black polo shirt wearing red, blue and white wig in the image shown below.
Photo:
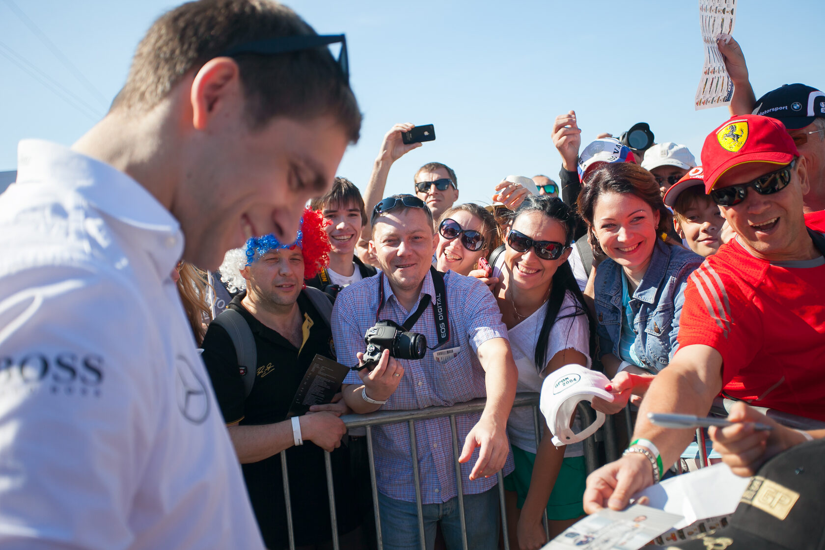
[[[291,246],[282,245],[272,235],[250,239],[246,266],[238,266],[243,268],[240,273],[247,288],[229,308],[243,316],[257,349],[256,373],[248,395],[238,355],[224,327],[212,322],[203,342],[203,359],[242,463],[258,526],[271,549],[285,548],[288,543],[281,450],[288,449],[296,546],[324,543],[332,537],[322,449],[332,451],[339,534],[355,529],[359,517],[351,505],[355,487],[349,453],[340,447],[347,430],[337,417],[347,411],[343,402],[320,406],[323,411],[300,416],[297,425],[286,418],[315,354],[335,358],[328,319],[301,290],[305,270],[317,270],[320,257],[329,250],[320,214],[305,211],[301,229],[301,239]],[[357,538],[357,534],[342,537],[342,548],[359,548],[360,541],[348,543],[347,538]]]

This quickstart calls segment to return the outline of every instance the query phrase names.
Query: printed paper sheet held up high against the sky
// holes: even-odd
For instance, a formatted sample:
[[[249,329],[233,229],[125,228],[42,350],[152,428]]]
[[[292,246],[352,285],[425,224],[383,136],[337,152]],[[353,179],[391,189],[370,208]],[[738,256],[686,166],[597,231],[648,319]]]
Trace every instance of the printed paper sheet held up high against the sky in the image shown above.
[[[699,0],[699,19],[702,43],[705,49],[705,66],[699,87],[696,88],[695,108],[727,106],[733,96],[733,82],[724,67],[716,38],[730,35],[736,24],[737,0]]]

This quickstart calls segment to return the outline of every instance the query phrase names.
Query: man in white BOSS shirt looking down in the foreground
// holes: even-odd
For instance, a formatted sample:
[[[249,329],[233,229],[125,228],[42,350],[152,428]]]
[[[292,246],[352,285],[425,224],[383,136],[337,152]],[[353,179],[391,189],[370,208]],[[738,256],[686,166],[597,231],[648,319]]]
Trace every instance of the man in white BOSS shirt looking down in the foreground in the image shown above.
[[[187,3],[72,148],[0,196],[0,547],[263,548],[170,273],[295,235],[361,115],[274,2]],[[273,55],[277,54],[277,55]]]

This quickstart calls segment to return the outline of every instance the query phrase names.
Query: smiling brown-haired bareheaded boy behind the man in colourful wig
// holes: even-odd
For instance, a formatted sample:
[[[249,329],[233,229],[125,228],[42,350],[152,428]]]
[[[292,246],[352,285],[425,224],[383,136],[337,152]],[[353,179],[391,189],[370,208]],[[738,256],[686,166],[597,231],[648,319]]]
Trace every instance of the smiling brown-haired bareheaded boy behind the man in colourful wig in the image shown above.
[[[309,203],[314,210],[321,210],[332,250],[329,252],[329,267],[318,270],[318,275],[308,279],[306,284],[322,289],[332,298],[338,290],[375,275],[373,266],[367,266],[356,256],[356,243],[366,225],[366,212],[361,191],[346,177],[337,176],[332,189],[320,199]]]

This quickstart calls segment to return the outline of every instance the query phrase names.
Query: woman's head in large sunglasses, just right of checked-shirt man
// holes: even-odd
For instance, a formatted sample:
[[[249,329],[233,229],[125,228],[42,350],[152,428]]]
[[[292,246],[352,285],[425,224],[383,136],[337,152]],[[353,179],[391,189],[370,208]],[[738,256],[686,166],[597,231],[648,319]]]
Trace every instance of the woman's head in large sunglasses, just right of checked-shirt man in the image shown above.
[[[501,244],[493,214],[475,203],[447,209],[438,223],[436,269],[459,275],[479,267],[479,260]]]

